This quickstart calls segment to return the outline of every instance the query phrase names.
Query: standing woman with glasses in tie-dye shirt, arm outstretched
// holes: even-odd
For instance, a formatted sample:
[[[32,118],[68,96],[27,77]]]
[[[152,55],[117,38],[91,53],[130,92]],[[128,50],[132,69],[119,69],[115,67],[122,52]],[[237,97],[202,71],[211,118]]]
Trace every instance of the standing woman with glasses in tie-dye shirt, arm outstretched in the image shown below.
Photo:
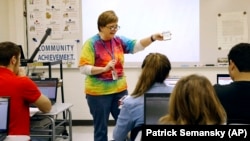
[[[155,40],[162,41],[160,33],[141,40],[116,36],[118,17],[112,10],[101,13],[97,21],[99,33],[88,39],[81,50],[79,69],[86,75],[85,92],[94,122],[94,141],[108,141],[109,115],[117,120],[119,99],[127,95],[124,75],[124,54],[143,50]]]

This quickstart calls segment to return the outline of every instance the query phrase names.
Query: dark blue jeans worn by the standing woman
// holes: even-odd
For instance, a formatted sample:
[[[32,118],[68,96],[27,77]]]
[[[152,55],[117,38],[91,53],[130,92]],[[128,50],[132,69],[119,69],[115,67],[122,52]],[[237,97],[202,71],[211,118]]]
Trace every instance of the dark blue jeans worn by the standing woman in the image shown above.
[[[118,101],[127,94],[127,90],[103,96],[86,94],[89,110],[93,117],[94,141],[108,141],[109,115],[111,113],[114,120],[117,120],[120,113]]]

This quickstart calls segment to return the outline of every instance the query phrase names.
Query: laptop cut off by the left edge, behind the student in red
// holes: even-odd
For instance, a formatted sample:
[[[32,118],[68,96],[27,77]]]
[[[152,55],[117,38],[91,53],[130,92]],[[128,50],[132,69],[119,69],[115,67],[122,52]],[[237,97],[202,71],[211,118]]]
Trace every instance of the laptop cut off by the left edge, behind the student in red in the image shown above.
[[[0,96],[0,141],[8,136],[10,97]]]

